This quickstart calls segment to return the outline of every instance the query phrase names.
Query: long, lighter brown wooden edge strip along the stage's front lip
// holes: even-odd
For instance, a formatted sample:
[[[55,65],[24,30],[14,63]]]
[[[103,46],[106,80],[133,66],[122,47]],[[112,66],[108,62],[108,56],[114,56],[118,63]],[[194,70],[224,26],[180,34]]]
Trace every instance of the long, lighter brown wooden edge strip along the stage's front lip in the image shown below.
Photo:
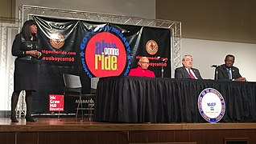
[[[256,123],[77,123],[0,125],[1,132],[21,131],[151,131],[151,130],[252,130]]]

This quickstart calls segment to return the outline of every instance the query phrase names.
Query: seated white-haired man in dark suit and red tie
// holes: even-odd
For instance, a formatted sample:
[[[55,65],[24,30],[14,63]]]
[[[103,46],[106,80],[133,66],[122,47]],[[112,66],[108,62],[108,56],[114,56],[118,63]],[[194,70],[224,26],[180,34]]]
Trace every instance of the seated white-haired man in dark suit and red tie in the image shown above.
[[[199,70],[192,68],[192,55],[184,55],[182,59],[182,67],[175,69],[175,78],[202,79]]]

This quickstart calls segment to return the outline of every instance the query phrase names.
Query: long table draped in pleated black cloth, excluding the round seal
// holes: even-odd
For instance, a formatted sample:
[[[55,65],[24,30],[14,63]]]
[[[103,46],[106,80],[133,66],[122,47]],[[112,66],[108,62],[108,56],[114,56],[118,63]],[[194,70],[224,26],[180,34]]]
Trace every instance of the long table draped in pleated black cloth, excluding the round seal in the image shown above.
[[[96,122],[206,122],[197,99],[205,88],[225,99],[220,122],[256,122],[256,82],[172,78],[100,78],[94,111]]]

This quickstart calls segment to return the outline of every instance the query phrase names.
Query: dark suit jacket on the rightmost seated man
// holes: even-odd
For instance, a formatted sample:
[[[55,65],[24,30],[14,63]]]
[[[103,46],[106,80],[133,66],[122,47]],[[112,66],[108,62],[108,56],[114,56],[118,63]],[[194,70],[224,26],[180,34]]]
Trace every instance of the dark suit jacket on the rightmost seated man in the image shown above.
[[[231,79],[229,79],[229,73],[227,71],[227,66],[225,66],[225,64],[217,67],[217,70],[218,70],[217,73],[215,73],[215,79],[231,81]],[[231,71],[232,71],[232,79],[242,77],[241,74],[239,73],[239,69],[237,67],[232,66]],[[218,77],[216,77],[216,74]]]

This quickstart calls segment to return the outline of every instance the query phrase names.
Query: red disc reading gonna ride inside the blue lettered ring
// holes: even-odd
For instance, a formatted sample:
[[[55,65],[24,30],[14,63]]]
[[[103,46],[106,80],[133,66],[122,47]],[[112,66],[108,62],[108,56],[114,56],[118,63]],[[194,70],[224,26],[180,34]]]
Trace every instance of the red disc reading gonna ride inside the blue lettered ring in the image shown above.
[[[126,66],[122,41],[109,32],[95,34],[85,50],[86,64],[96,77],[116,76]]]

